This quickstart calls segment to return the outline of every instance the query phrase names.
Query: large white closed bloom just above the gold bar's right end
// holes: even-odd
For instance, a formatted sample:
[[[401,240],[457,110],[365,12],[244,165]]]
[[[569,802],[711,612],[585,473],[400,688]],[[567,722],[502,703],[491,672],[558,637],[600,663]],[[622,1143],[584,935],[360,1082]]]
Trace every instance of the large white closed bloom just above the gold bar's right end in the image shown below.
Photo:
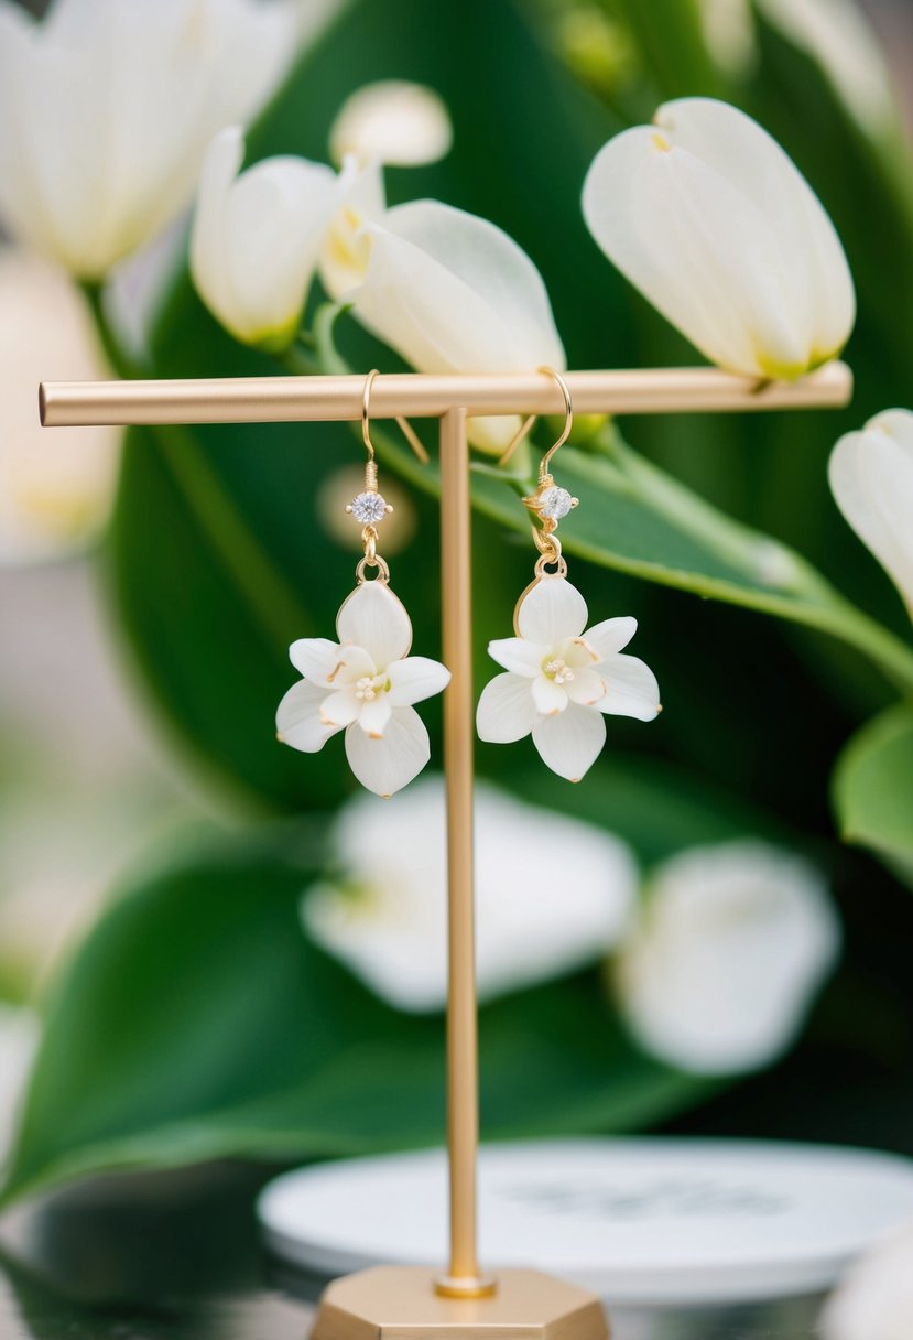
[[[600,150],[582,204],[609,260],[720,367],[794,379],[846,343],[855,296],[834,225],[738,109],[660,107]]]

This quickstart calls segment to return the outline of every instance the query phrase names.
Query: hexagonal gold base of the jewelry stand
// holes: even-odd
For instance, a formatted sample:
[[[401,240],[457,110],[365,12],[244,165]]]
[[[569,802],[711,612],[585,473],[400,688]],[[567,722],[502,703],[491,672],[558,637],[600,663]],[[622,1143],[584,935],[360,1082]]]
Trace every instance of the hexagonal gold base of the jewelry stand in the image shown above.
[[[424,1266],[378,1266],[329,1285],[312,1340],[606,1340],[593,1293],[538,1270],[497,1272],[490,1298],[444,1298]]]

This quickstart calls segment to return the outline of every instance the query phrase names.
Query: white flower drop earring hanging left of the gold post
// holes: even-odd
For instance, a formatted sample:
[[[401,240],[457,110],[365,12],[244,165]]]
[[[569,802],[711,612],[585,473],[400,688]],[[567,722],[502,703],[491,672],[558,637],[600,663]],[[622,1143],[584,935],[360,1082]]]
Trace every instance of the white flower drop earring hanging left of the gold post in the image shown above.
[[[422,772],[428,732],[412,706],[440,693],[450,671],[427,657],[410,657],[412,624],[390,590],[390,568],[378,553],[378,525],[392,508],[378,490],[368,405],[376,368],[364,381],[361,437],[368,453],[364,490],[347,507],[363,525],[364,557],[357,586],[336,615],[339,641],[300,638],[289,647],[304,677],[278,705],[278,740],[317,753],[345,730],[345,756],[357,780],[378,796],[392,796]],[[411,438],[410,438],[411,441]],[[376,575],[368,579],[368,570]]]

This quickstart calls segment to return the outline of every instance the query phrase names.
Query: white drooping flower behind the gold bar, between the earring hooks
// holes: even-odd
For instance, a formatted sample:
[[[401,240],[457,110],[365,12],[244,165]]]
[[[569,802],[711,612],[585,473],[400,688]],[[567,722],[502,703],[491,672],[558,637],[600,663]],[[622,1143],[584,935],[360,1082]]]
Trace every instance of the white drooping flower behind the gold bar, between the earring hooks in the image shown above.
[[[420,200],[387,210],[367,236],[355,315],[419,373],[565,366],[542,277],[494,224]],[[473,441],[495,452],[515,430],[510,418],[470,422]]]

